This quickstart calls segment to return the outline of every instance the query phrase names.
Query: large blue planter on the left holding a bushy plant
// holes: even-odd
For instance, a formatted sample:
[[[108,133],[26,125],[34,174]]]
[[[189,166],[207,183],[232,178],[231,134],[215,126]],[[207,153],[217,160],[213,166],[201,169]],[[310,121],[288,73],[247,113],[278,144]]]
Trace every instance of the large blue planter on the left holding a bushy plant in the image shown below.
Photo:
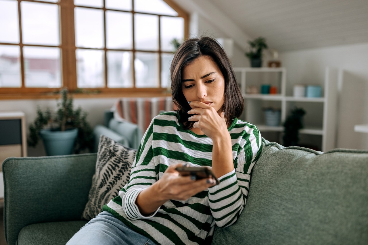
[[[50,131],[42,129],[40,131],[43,145],[47,156],[71,155],[73,152],[75,138],[78,135],[78,128],[66,131]]]

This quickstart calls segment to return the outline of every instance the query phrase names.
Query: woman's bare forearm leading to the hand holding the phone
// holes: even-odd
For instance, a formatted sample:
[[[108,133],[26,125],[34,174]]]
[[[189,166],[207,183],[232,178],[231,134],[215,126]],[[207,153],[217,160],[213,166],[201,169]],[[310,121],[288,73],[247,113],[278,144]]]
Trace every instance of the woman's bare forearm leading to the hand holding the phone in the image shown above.
[[[137,199],[135,200],[135,204],[137,204],[141,214],[149,216],[166,201],[167,200],[162,198],[162,195],[160,195],[157,188],[157,182],[155,182],[155,184],[139,193]]]

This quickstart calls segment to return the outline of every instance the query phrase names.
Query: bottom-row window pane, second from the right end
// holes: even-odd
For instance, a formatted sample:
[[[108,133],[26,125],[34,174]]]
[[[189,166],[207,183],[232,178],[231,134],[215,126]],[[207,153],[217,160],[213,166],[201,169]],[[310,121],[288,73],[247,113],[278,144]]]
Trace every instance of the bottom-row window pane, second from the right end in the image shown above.
[[[158,53],[136,52],[135,60],[135,87],[159,87],[159,57]]]

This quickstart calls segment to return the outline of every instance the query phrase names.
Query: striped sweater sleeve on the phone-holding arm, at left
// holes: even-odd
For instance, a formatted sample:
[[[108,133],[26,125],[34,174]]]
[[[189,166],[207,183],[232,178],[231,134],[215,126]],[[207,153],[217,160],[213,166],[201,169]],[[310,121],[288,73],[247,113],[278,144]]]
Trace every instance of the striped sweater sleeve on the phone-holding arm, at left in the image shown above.
[[[158,211],[157,209],[150,216],[144,216],[139,212],[138,206],[135,204],[139,192],[156,182],[152,151],[153,121],[154,119],[142,138],[133,163],[130,180],[124,187],[125,193],[122,193],[123,195],[121,196],[124,213],[130,220],[149,219],[155,216]]]

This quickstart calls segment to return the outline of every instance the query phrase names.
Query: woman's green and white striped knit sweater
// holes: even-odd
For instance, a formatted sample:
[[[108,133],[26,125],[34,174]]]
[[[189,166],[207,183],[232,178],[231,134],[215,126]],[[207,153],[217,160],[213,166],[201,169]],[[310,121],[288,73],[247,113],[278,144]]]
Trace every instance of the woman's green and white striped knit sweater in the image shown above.
[[[174,111],[153,118],[135,157],[130,181],[103,206],[128,227],[157,244],[206,244],[215,230],[235,223],[247,200],[251,170],[261,152],[255,125],[235,118],[230,125],[234,170],[220,184],[191,198],[169,200],[150,216],[135,204],[142,189],[159,180],[170,164],[212,166],[212,139],[185,130]]]

